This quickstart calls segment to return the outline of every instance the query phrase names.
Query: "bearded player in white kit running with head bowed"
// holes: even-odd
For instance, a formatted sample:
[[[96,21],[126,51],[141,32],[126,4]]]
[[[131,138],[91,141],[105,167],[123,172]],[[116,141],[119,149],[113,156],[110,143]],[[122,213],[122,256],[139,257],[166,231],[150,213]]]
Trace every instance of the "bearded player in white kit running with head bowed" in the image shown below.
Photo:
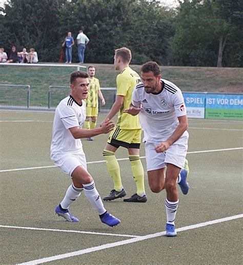
[[[141,80],[143,83],[136,86],[132,104],[125,112],[139,113],[144,130],[149,186],[155,193],[166,189],[166,236],[176,236],[174,221],[179,202],[176,183],[183,194],[189,190],[186,160],[189,134],[184,98],[177,86],[161,79],[155,62],[141,67]]]

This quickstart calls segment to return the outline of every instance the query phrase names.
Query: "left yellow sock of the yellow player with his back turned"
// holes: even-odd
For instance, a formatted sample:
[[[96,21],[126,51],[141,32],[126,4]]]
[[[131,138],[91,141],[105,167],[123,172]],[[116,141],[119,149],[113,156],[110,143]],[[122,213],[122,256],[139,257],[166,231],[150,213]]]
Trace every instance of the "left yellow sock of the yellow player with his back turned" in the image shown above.
[[[114,189],[120,191],[123,188],[122,179],[120,178],[120,167],[116,160],[115,153],[104,149],[103,156],[106,159],[107,169],[113,180]]]

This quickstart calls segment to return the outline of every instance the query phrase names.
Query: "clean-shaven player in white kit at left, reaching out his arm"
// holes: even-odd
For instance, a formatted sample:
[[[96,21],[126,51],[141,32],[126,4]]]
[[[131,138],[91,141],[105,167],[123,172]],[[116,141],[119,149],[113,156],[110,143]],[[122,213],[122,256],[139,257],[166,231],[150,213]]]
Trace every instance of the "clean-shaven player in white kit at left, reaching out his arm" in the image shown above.
[[[86,105],[89,90],[89,75],[86,72],[75,71],[70,76],[70,96],[60,101],[56,107],[53,121],[51,159],[63,172],[71,176],[72,184],[64,199],[55,208],[58,216],[67,221],[77,222],[69,207],[80,193],[84,193],[91,205],[98,212],[100,220],[108,226],[116,226],[120,220],[107,212],[100,198],[92,176],[87,171],[86,157],[81,138],[108,133],[114,128],[113,121],[106,119],[99,128],[83,129],[86,118]]]

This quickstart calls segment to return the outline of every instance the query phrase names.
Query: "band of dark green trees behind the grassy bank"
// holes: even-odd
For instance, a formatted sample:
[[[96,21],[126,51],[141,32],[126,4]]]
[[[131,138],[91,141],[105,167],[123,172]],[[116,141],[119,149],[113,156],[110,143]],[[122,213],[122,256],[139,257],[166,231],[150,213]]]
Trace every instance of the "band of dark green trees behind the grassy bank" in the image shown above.
[[[114,49],[132,50],[132,63],[242,66],[242,1],[185,0],[176,9],[155,0],[8,0],[0,14],[0,46],[35,48],[58,62],[67,32],[90,38],[86,62],[113,62]],[[73,62],[78,62],[73,47]]]

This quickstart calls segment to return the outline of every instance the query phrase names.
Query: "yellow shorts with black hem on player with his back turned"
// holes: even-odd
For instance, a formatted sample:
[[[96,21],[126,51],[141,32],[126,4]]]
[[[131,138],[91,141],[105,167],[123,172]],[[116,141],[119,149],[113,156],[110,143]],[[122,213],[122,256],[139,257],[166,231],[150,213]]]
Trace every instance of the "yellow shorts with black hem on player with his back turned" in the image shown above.
[[[111,131],[108,144],[118,148],[119,146],[125,148],[140,148],[141,142],[141,129],[135,130],[123,130],[119,127],[115,127]]]

